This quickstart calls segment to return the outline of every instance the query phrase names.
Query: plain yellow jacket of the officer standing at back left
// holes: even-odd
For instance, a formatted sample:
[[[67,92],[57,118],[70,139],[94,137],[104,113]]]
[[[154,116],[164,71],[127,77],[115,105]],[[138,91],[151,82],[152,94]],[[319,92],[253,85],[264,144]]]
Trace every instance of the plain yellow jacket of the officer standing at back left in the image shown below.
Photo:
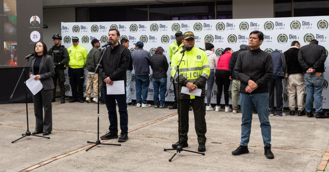
[[[71,68],[82,68],[86,65],[87,61],[87,49],[77,45],[76,47],[71,46],[67,48],[68,56],[70,57],[70,61],[68,62],[68,66]]]

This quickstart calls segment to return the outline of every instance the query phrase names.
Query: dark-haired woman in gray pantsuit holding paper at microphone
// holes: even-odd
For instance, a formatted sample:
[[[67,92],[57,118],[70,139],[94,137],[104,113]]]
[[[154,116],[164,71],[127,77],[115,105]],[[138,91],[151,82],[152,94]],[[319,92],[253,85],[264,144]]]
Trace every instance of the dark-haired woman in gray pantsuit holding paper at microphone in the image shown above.
[[[52,76],[55,73],[54,62],[51,56],[47,55],[47,46],[39,41],[35,45],[35,56],[31,60],[30,78],[35,76],[35,80],[40,80],[43,88],[33,95],[34,115],[36,116],[36,131],[32,134],[43,133],[49,135],[52,131],[52,107],[54,83]],[[43,111],[44,108],[44,119]]]

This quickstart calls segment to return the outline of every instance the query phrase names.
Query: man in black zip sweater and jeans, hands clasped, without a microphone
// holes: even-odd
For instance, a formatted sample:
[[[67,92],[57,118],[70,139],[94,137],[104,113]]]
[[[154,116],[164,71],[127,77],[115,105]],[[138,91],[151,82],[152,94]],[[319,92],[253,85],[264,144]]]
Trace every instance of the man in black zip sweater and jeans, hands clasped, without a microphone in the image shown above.
[[[273,159],[271,151],[271,125],[268,120],[268,83],[273,76],[273,62],[269,53],[260,49],[264,34],[258,30],[249,35],[250,49],[241,52],[235,66],[235,74],[240,80],[241,99],[241,142],[233,155],[249,153],[248,143],[251,132],[253,104],[256,106],[261,123],[265,156]],[[267,101],[266,101],[267,100]]]

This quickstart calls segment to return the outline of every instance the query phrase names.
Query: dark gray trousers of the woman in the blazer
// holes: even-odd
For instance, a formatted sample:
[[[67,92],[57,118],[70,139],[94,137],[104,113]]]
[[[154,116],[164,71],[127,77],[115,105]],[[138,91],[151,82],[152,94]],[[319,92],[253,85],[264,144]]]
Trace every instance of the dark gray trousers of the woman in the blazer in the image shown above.
[[[36,95],[32,96],[34,115],[36,116],[36,131],[49,132],[53,130],[51,107],[52,95],[52,89],[44,90],[42,88]],[[44,108],[44,119],[42,107]]]

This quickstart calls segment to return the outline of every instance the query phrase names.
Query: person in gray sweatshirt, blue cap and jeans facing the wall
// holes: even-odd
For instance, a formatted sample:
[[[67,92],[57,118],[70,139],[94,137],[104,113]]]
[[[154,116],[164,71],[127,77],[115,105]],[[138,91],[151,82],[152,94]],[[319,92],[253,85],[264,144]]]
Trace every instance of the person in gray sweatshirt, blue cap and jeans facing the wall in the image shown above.
[[[151,107],[151,105],[147,104],[147,92],[148,87],[150,86],[150,79],[148,74],[150,74],[149,66],[151,65],[151,54],[143,49],[143,42],[138,41],[134,45],[136,50],[132,54],[132,60],[135,69],[136,106]]]

